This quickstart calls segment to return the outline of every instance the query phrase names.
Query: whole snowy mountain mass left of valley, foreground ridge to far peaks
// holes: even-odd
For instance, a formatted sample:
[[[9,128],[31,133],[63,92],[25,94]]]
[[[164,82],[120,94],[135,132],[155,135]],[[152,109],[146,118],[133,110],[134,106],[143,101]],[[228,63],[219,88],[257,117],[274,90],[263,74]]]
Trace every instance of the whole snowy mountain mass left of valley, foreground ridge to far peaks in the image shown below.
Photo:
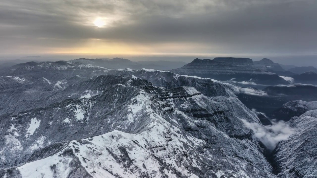
[[[0,177],[287,177],[283,144],[268,159],[272,145],[250,125],[271,128],[240,101],[268,90],[145,68],[32,65],[0,78]]]

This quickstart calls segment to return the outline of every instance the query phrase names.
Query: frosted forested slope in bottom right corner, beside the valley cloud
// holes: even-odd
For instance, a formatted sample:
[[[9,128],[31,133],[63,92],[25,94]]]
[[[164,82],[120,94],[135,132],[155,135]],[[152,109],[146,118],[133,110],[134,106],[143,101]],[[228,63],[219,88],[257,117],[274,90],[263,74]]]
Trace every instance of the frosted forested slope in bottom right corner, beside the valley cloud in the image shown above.
[[[275,149],[278,177],[316,177],[317,110],[295,116],[288,123],[296,133]]]

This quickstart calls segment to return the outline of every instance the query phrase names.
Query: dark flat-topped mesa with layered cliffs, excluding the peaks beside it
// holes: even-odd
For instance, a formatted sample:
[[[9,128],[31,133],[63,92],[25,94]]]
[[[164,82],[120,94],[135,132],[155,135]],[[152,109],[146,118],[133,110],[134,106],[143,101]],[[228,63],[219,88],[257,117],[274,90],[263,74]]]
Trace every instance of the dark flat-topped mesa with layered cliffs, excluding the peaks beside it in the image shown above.
[[[235,78],[237,81],[252,80],[258,84],[287,83],[277,74],[254,66],[249,58],[195,59],[184,67],[172,71],[182,75],[195,75],[222,81]]]

